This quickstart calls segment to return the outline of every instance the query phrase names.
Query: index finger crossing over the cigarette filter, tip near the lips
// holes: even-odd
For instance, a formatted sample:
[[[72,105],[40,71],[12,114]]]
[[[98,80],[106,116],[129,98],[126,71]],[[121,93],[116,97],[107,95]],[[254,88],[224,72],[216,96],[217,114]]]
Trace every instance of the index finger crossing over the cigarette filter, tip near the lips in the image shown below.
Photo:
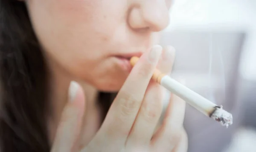
[[[125,143],[161,53],[162,47],[154,46],[132,69],[102,124],[108,137]]]

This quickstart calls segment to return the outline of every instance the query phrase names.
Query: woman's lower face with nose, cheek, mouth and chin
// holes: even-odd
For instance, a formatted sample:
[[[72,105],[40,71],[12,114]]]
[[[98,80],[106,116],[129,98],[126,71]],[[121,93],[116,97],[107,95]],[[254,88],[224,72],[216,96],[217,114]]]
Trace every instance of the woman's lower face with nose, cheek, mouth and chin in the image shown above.
[[[171,0],[26,0],[32,25],[51,60],[104,91],[120,89],[128,59],[157,43]]]

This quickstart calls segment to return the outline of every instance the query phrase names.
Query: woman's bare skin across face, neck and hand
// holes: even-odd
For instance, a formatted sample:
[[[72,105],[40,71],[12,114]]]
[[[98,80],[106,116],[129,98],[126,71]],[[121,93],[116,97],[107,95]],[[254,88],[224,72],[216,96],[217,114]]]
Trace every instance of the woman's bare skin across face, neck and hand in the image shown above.
[[[171,0],[25,3],[50,71],[52,152],[186,152],[185,103],[175,95],[154,132],[163,88],[150,79],[155,68],[171,72],[174,49],[151,48],[169,24]],[[141,56],[132,70],[118,58],[131,54]],[[79,83],[72,101],[71,80]],[[96,106],[99,90],[120,90],[102,126]]]

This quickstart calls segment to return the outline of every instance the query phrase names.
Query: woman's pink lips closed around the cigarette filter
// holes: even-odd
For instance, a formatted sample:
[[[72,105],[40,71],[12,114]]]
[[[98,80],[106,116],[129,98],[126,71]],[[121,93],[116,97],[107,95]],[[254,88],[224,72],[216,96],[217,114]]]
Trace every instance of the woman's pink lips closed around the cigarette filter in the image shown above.
[[[128,54],[118,54],[114,57],[117,59],[117,64],[126,72],[130,72],[132,69],[130,59],[131,57],[140,57],[143,53],[136,52],[136,53],[128,53]]]

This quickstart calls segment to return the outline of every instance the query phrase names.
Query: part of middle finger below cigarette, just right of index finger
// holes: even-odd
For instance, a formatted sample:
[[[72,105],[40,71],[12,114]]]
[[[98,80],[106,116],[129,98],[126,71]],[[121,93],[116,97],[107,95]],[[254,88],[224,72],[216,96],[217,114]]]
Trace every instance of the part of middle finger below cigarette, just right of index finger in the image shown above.
[[[127,138],[126,146],[128,148],[147,147],[150,144],[163,108],[163,90],[160,87],[156,82],[150,82],[134,125]]]

